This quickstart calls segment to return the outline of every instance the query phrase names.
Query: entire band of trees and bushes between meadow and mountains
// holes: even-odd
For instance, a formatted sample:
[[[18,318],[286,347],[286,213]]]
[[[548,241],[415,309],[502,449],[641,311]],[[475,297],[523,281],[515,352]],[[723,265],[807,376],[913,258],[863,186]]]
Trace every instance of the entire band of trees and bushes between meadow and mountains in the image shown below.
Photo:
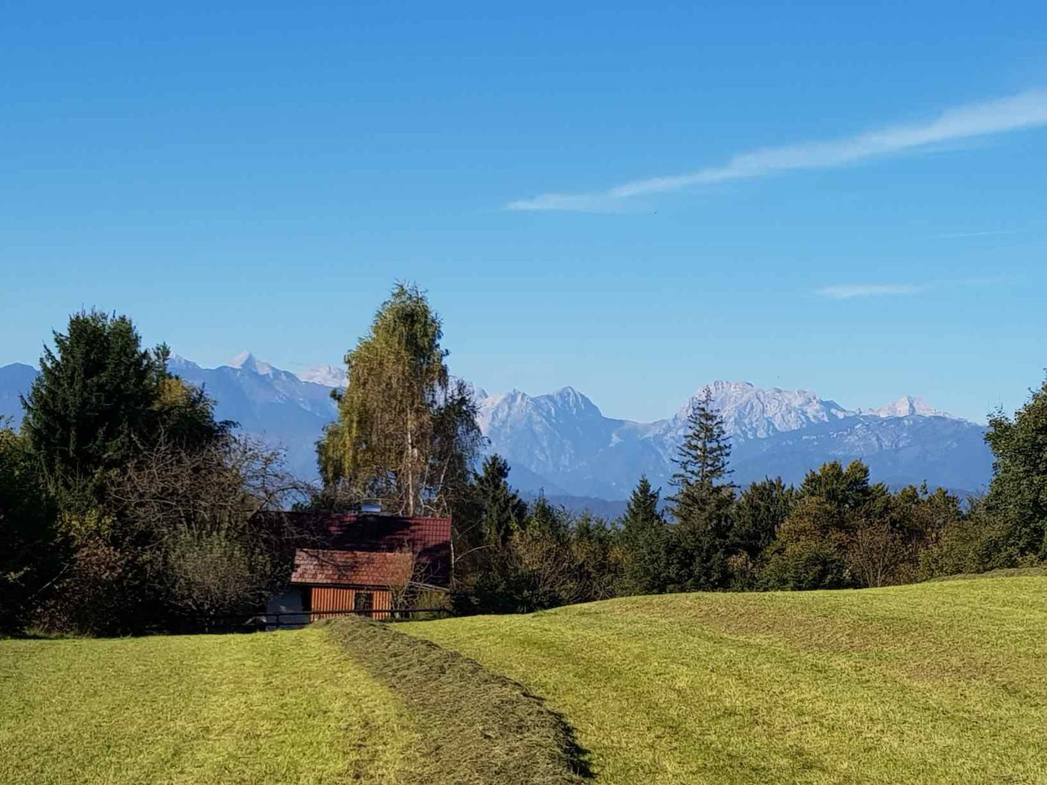
[[[989,418],[988,492],[891,491],[860,462],[798,486],[731,481],[730,441],[696,402],[662,489],[639,478],[619,520],[528,503],[484,456],[425,293],[398,285],[346,355],[320,483],[215,419],[205,390],[143,350],[131,320],[70,317],[45,347],[19,431],[0,428],[0,628],[94,634],[257,611],[295,547],[321,542],[255,512],[450,516],[458,612],[514,612],[623,595],[872,587],[1047,560],[1047,382]]]

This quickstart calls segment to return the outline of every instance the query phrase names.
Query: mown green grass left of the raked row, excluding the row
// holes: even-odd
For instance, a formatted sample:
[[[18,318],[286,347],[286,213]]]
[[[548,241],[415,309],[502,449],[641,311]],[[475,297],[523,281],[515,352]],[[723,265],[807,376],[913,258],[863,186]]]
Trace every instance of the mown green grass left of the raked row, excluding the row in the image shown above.
[[[0,641],[3,783],[401,783],[421,748],[320,629]]]

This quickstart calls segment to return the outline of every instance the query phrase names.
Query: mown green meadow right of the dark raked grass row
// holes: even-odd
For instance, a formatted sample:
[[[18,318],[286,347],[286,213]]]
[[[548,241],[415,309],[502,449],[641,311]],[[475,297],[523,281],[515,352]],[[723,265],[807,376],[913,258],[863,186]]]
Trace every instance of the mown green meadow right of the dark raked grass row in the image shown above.
[[[599,781],[1047,782],[1047,579],[400,626],[562,712]]]

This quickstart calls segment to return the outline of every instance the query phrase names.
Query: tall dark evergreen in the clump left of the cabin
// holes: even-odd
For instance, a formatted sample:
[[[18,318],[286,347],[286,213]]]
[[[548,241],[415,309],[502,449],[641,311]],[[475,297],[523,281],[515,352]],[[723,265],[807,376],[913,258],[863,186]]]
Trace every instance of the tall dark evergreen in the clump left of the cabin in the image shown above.
[[[198,454],[223,452],[231,427],[215,422],[202,390],[168,373],[168,357],[164,345],[143,350],[126,316],[97,311],[73,314],[44,350],[23,398],[22,432],[54,500],[48,547],[68,550],[61,580],[47,584],[50,599],[40,605],[44,598],[36,597],[45,626],[124,633],[156,621],[162,598],[149,562],[172,533],[115,489],[129,474],[149,474],[164,509],[192,517],[165,469],[176,458],[195,465]]]

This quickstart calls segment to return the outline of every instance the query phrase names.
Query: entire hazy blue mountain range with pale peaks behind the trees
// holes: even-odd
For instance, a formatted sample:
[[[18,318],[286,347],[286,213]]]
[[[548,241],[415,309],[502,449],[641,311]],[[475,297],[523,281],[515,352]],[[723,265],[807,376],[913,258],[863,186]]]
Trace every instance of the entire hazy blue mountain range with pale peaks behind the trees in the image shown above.
[[[284,447],[294,471],[315,476],[315,443],[336,416],[331,392],[344,385],[343,368],[324,365],[292,374],[245,352],[216,368],[175,357],[171,369],[202,385],[217,401],[220,419]],[[27,365],[0,367],[0,417],[21,418],[18,395],[35,376]],[[853,458],[868,463],[874,479],[891,485],[927,480],[976,492],[992,473],[984,428],[916,398],[863,410],[806,390],[726,381],[707,386],[731,435],[739,484],[767,475],[795,483],[826,461]],[[521,491],[623,499],[641,473],[655,486],[668,483],[688,412],[705,389],[651,423],[604,417],[572,387],[540,396],[476,390],[476,400],[489,450],[509,461],[511,480]]]

